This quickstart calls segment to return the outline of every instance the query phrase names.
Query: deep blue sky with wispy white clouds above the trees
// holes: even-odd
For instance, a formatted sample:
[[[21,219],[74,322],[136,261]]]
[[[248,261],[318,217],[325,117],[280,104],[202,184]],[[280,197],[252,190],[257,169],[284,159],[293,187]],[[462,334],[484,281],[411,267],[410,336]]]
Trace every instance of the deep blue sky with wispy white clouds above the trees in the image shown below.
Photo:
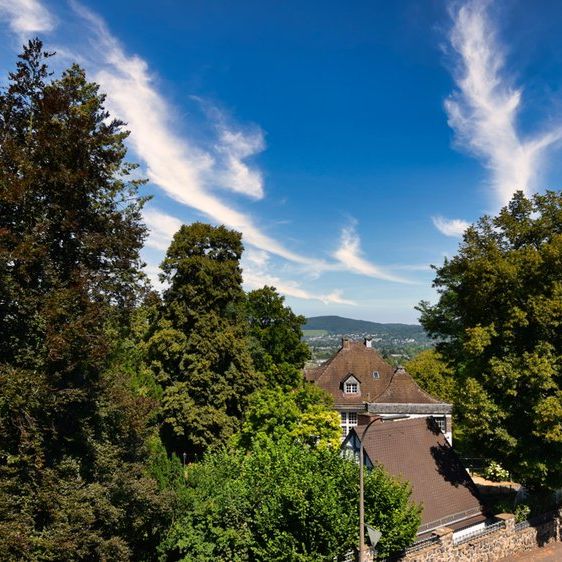
[[[0,0],[0,20],[3,81],[39,35],[128,123],[153,279],[203,220],[243,232],[248,289],[415,322],[468,223],[561,186],[560,2]]]

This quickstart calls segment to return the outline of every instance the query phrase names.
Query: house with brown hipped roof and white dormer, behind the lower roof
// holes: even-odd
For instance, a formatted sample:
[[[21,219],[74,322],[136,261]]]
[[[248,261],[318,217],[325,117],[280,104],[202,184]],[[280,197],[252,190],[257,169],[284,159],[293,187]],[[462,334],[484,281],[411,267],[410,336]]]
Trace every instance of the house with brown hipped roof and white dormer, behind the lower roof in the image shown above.
[[[342,439],[357,425],[359,414],[370,412],[403,420],[433,417],[452,442],[452,405],[424,392],[404,368],[391,367],[372,347],[371,338],[344,338],[336,354],[307,370],[305,377],[333,396]]]

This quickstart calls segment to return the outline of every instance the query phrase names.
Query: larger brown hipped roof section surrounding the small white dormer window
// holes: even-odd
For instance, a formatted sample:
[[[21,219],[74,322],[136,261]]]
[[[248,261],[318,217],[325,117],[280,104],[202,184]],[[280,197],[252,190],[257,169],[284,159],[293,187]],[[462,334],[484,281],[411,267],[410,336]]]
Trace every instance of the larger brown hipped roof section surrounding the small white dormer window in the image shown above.
[[[380,378],[373,378],[378,371]],[[328,361],[305,373],[308,380],[327,390],[336,404],[373,402],[389,385],[394,369],[362,342],[347,342]],[[361,394],[344,394],[342,382],[349,375],[361,383]]]

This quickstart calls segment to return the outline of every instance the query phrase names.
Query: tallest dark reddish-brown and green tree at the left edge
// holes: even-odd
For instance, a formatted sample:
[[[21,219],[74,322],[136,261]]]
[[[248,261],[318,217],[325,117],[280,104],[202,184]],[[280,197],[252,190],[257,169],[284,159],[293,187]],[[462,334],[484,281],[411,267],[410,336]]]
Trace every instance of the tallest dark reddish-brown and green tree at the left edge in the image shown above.
[[[122,123],[31,41],[0,95],[0,558],[141,559],[162,508],[107,320],[138,292]]]

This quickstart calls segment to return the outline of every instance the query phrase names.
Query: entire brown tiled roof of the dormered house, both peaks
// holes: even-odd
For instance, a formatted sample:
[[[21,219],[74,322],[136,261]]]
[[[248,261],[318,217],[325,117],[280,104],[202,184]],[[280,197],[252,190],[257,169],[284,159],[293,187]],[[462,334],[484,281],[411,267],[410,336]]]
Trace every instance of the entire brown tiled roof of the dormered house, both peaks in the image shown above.
[[[378,379],[373,372],[378,371]],[[361,383],[360,394],[345,394],[343,381],[349,374]],[[360,405],[364,402],[438,404],[415,383],[405,371],[394,372],[372,347],[363,342],[346,342],[328,361],[305,372],[305,377],[327,390],[337,406]]]

